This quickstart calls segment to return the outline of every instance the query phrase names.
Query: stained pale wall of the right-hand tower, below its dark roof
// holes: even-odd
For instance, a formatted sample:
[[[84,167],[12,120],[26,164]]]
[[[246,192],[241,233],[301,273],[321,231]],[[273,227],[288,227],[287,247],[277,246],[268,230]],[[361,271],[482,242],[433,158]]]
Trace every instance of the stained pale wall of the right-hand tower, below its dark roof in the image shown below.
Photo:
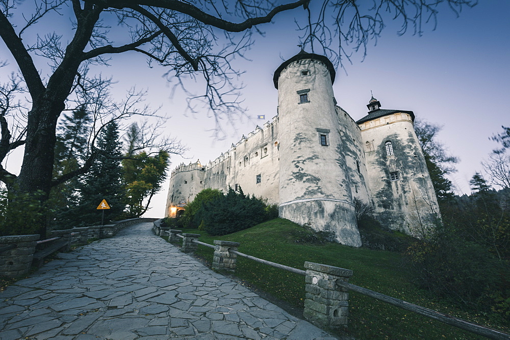
[[[394,230],[423,235],[439,208],[411,116],[398,112],[360,127],[378,220]],[[387,155],[387,141],[393,155]],[[392,179],[391,173],[398,179]]]

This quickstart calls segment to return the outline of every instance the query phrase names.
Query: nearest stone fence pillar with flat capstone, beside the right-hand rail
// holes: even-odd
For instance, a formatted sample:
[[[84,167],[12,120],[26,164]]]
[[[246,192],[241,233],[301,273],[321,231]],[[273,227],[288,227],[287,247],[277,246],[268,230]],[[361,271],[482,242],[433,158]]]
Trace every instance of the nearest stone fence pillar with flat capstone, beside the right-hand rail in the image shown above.
[[[347,327],[349,294],[338,280],[348,281],[352,270],[305,262],[307,269],[303,316],[313,324],[331,328]]]

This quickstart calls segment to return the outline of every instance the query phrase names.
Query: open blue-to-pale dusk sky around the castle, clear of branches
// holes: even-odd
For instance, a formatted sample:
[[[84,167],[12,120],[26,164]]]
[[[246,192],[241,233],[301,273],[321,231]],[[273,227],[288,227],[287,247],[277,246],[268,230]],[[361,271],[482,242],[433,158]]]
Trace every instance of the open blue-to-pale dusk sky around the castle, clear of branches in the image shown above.
[[[118,81],[114,95],[123,96],[136,85],[148,91],[147,101],[153,107],[162,105],[160,114],[168,117],[166,131],[189,148],[184,158],[172,156],[169,172],[181,162],[199,159],[206,164],[257,124],[276,115],[277,90],[272,76],[284,60],[299,52],[294,15],[301,12],[276,16],[274,24],[261,26],[266,36],[254,37],[254,45],[245,53],[249,60],[234,61],[234,68],[246,71],[240,79],[245,84],[242,94],[247,117],[237,120],[235,127],[224,122],[226,135],[222,139],[213,136],[215,121],[207,112],[185,115],[185,95],[177,90],[170,96],[172,84],[162,77],[165,70],[147,68],[142,56],[115,56],[112,67],[101,72]],[[363,62],[363,53],[353,54],[352,64],[345,61],[345,70],[337,70],[334,92],[338,105],[359,120],[367,114],[372,91],[382,108],[412,110],[417,119],[442,125],[438,139],[460,158],[458,171],[450,179],[456,193],[469,193],[469,180],[475,172],[483,172],[480,161],[497,147],[490,137],[502,132],[501,125],[510,125],[508,13],[508,0],[480,1],[474,8],[463,8],[458,18],[443,6],[437,29],[425,25],[421,37],[412,31],[398,36],[399,25],[390,16],[377,44],[368,44]],[[0,60],[5,59],[12,65],[10,52],[0,42]],[[0,70],[2,79],[7,74]],[[188,88],[193,89],[193,83],[188,82]],[[265,115],[266,120],[258,120],[258,115]],[[19,158],[19,154],[11,155],[7,169],[16,172]],[[167,190],[165,184],[152,199],[146,217],[163,216]]]

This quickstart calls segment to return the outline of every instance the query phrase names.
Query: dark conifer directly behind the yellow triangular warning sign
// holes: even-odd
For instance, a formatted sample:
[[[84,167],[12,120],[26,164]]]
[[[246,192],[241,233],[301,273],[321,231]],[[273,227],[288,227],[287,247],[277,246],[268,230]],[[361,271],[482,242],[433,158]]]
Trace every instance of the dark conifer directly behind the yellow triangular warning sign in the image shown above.
[[[122,144],[118,125],[110,122],[100,132],[97,140],[98,156],[94,165],[80,182],[80,198],[77,209],[73,209],[76,224],[100,224],[101,212],[97,206],[106,200],[110,209],[105,210],[105,223],[119,219],[124,211],[124,188],[122,185]]]

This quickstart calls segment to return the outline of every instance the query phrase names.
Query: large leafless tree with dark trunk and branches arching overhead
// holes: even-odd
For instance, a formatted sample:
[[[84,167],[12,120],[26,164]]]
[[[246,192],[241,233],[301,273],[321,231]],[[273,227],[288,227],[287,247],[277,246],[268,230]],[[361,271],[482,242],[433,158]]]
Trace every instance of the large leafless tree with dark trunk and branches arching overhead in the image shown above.
[[[109,96],[111,79],[91,74],[92,68],[108,66],[114,54],[143,54],[149,66],[168,67],[167,78],[183,86],[186,78],[201,79],[203,93],[190,98],[189,106],[202,102],[217,119],[230,118],[242,113],[236,79],[240,73],[231,61],[250,46],[252,33],[277,20],[278,13],[307,11],[303,44],[312,51],[314,44],[321,46],[326,55],[337,55],[338,63],[342,56],[349,56],[346,43],[364,48],[369,39],[379,36],[385,15],[401,20],[403,31],[412,26],[420,34],[422,23],[435,21],[442,3],[458,11],[474,2],[373,0],[373,6],[367,7],[367,2],[353,0],[297,0],[283,5],[271,0],[37,0],[30,7],[0,0],[0,37],[19,69],[10,82],[2,84],[0,161],[24,146],[19,175],[0,166],[0,181],[20,192],[47,194],[52,186],[87,171],[93,152],[90,162],[78,171],[52,179],[55,131],[64,110],[87,106],[101,112],[112,107],[115,117],[109,119],[143,111],[133,102],[137,92],[115,103]],[[63,33],[44,32],[48,27],[39,22],[48,17],[54,26],[65,27],[70,20],[72,27]],[[116,34],[110,34],[113,23]],[[41,60],[41,65],[36,64]],[[23,100],[17,104],[15,98]],[[7,116],[16,110],[20,115],[9,128]],[[95,118],[98,129],[107,123],[105,116]]]

